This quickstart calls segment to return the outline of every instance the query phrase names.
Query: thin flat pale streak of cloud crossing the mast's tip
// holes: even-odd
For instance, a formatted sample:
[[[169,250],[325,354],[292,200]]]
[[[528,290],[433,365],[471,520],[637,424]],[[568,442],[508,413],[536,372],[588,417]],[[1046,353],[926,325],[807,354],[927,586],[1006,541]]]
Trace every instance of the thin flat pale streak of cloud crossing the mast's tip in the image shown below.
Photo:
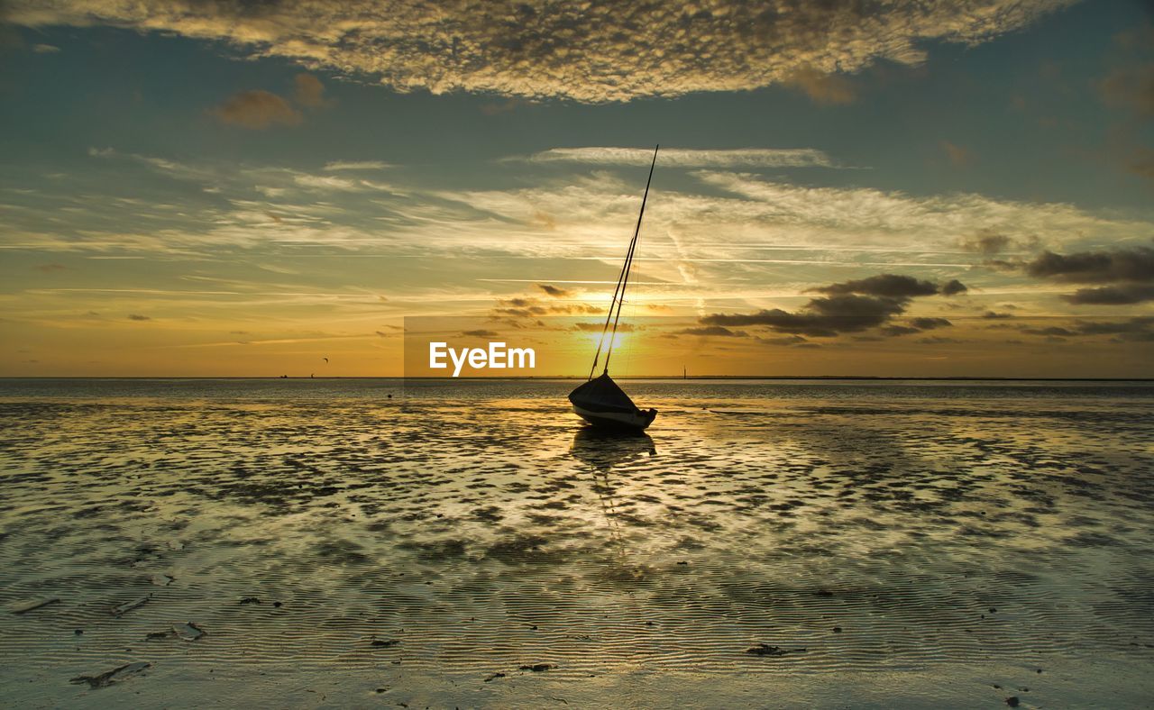
[[[533,153],[531,163],[583,163],[587,165],[649,165],[653,151],[647,148],[554,148]],[[658,151],[661,167],[838,167],[824,152],[811,148],[702,150],[667,148]]]

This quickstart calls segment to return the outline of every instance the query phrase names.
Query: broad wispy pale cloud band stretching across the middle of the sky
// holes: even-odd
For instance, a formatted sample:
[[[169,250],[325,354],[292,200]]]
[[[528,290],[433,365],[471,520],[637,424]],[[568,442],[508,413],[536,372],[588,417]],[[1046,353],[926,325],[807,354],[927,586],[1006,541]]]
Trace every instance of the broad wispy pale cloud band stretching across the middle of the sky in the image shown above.
[[[355,171],[308,173],[278,166],[185,163],[104,148],[92,152],[122,163],[118,171],[138,164],[170,178],[150,181],[147,197],[172,207],[162,212],[145,209],[140,201],[133,205],[117,202],[121,196],[110,184],[92,196],[46,194],[42,202],[52,199],[85,211],[59,211],[59,221],[52,224],[33,219],[31,211],[27,219],[23,212],[12,212],[8,228],[23,234],[25,243],[50,251],[128,249],[187,255],[230,244],[279,242],[358,251],[389,247],[424,255],[612,256],[609,260],[620,267],[619,252],[628,240],[621,235],[631,232],[640,202],[635,182],[608,171],[538,178],[530,187],[450,190],[419,181],[404,188],[382,184],[364,180],[370,174]],[[507,171],[505,183],[525,183],[531,178],[524,164],[497,168]],[[637,267],[649,280],[687,287],[699,282],[698,293],[706,295],[713,293],[706,286],[717,278],[733,279],[736,271],[773,269],[774,264],[968,269],[974,259],[957,255],[958,240],[981,229],[1016,242],[1046,234],[1055,247],[1133,240],[1154,229],[1148,220],[1063,203],[814,188],[730,172],[698,171],[685,178],[651,195]],[[192,197],[198,218],[181,214],[189,206],[189,194],[187,186],[174,181],[193,184],[204,196]],[[321,194],[324,199],[317,199]],[[140,217],[129,232],[123,228],[126,216]],[[545,232],[548,239],[542,239]],[[942,263],[937,255],[946,254],[949,263]]]

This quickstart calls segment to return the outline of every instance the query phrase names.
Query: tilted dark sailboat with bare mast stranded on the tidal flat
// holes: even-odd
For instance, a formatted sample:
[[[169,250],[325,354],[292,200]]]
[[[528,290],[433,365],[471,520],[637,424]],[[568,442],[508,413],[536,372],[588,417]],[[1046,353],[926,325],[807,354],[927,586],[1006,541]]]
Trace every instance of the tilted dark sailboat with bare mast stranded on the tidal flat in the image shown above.
[[[644,431],[657,418],[657,409],[642,410],[617,383],[613,382],[613,378],[609,377],[609,357],[613,355],[617,322],[621,319],[621,305],[625,302],[625,286],[629,285],[629,270],[634,265],[634,251],[637,249],[637,236],[642,232],[645,202],[649,199],[649,187],[653,181],[653,167],[657,165],[657,151],[660,148],[658,145],[653,149],[650,176],[645,181],[645,194],[642,196],[642,211],[637,216],[637,227],[634,228],[634,239],[629,241],[625,263],[621,266],[621,275],[617,277],[617,287],[613,290],[613,300],[609,302],[609,312],[601,327],[601,338],[597,343],[597,354],[593,355],[593,367],[589,370],[589,379],[569,393],[569,402],[572,403],[574,411],[590,424],[602,429]],[[608,340],[606,340],[606,335],[608,335]],[[601,370],[601,375],[594,378],[593,373],[600,363],[602,347],[605,348],[605,368]]]

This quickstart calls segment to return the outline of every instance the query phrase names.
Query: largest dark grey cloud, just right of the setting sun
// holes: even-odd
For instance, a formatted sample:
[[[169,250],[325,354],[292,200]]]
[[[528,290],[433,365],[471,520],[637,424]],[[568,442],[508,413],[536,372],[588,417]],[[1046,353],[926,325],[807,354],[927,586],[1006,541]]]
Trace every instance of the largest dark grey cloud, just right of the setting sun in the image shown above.
[[[763,309],[755,314],[712,314],[699,318],[709,326],[765,326],[779,333],[832,338],[841,333],[859,333],[885,326],[885,335],[904,335],[922,330],[917,325],[886,325],[906,311],[909,302],[919,296],[931,296],[941,288],[901,274],[879,274],[868,279],[844,281],[812,288],[829,296],[811,299],[796,312],[779,308]],[[945,318],[923,318],[930,328],[949,325]]]

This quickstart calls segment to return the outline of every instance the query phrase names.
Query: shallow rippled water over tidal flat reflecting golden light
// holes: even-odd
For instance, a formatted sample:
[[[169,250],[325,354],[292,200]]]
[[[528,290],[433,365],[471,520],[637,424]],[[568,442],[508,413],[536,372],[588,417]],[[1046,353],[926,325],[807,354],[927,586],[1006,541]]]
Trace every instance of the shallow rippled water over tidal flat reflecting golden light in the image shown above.
[[[1154,696],[1154,386],[572,385],[0,380],[8,701]]]

